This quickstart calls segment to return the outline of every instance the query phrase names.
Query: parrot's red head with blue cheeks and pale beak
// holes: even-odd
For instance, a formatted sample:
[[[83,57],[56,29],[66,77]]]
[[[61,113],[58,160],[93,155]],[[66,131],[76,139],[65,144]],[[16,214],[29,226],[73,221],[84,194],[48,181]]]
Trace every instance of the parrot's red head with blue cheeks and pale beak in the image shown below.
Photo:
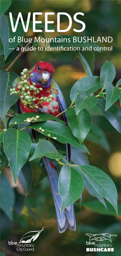
[[[30,81],[36,83],[36,85],[48,88],[52,83],[54,71],[54,67],[50,63],[39,61],[29,70],[29,74],[33,73],[33,76],[30,77]]]

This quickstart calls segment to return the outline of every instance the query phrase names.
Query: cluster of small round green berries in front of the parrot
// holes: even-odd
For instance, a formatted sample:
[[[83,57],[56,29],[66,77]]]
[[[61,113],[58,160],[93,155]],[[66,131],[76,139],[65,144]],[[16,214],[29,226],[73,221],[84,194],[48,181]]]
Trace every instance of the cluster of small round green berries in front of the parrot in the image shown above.
[[[16,91],[16,88],[14,87],[13,89],[10,89],[10,94],[17,94],[23,101],[23,104],[25,106],[29,106],[30,108],[36,107],[38,108],[38,104],[43,104],[44,101],[48,102],[52,100],[52,95],[49,95],[49,97],[35,97],[35,94],[38,94],[39,91],[42,91],[42,88],[36,88],[35,83],[33,82],[33,85],[29,84],[29,78],[33,76],[33,73],[28,75],[28,69],[24,68],[23,71],[21,72],[21,79],[22,81],[19,82],[19,85],[17,86],[18,91]],[[31,92],[33,91],[33,96],[31,96]],[[38,100],[37,104],[34,104],[34,101]],[[43,106],[43,105],[42,105]]]

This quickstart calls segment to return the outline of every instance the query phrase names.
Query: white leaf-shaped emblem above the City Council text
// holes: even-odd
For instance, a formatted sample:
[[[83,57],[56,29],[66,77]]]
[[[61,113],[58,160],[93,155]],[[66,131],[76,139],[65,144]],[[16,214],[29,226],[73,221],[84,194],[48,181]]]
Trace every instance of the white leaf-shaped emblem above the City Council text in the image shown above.
[[[20,243],[24,243],[24,244],[28,244],[28,243],[31,243],[31,241],[35,241],[39,234],[44,230],[44,227],[42,228],[42,230],[39,230],[39,231],[30,231],[30,232],[27,232],[26,234],[24,234],[22,236],[22,238],[20,239]]]

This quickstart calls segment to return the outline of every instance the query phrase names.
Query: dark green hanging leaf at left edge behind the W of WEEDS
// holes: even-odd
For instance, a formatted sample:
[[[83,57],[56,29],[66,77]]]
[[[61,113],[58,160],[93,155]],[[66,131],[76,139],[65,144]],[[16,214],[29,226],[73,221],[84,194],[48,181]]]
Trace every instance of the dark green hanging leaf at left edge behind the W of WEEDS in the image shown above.
[[[13,24],[15,26],[16,19],[13,18]],[[17,37],[23,36],[23,27],[22,23],[18,22],[17,30],[16,30],[16,38],[15,42],[10,43],[9,38],[12,38],[15,36],[15,33],[12,32],[11,29],[11,21],[9,16],[5,16],[4,14],[0,18],[0,37],[4,46],[4,56],[5,61],[7,59],[7,56],[19,45]]]

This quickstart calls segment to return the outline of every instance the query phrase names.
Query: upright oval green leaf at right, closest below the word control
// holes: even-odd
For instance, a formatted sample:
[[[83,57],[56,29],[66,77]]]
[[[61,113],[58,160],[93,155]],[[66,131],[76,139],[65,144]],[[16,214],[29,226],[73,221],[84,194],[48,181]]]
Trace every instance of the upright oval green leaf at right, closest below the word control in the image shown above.
[[[110,61],[105,61],[100,70],[100,82],[102,91],[106,88],[107,82],[112,83],[115,79],[115,67]]]

